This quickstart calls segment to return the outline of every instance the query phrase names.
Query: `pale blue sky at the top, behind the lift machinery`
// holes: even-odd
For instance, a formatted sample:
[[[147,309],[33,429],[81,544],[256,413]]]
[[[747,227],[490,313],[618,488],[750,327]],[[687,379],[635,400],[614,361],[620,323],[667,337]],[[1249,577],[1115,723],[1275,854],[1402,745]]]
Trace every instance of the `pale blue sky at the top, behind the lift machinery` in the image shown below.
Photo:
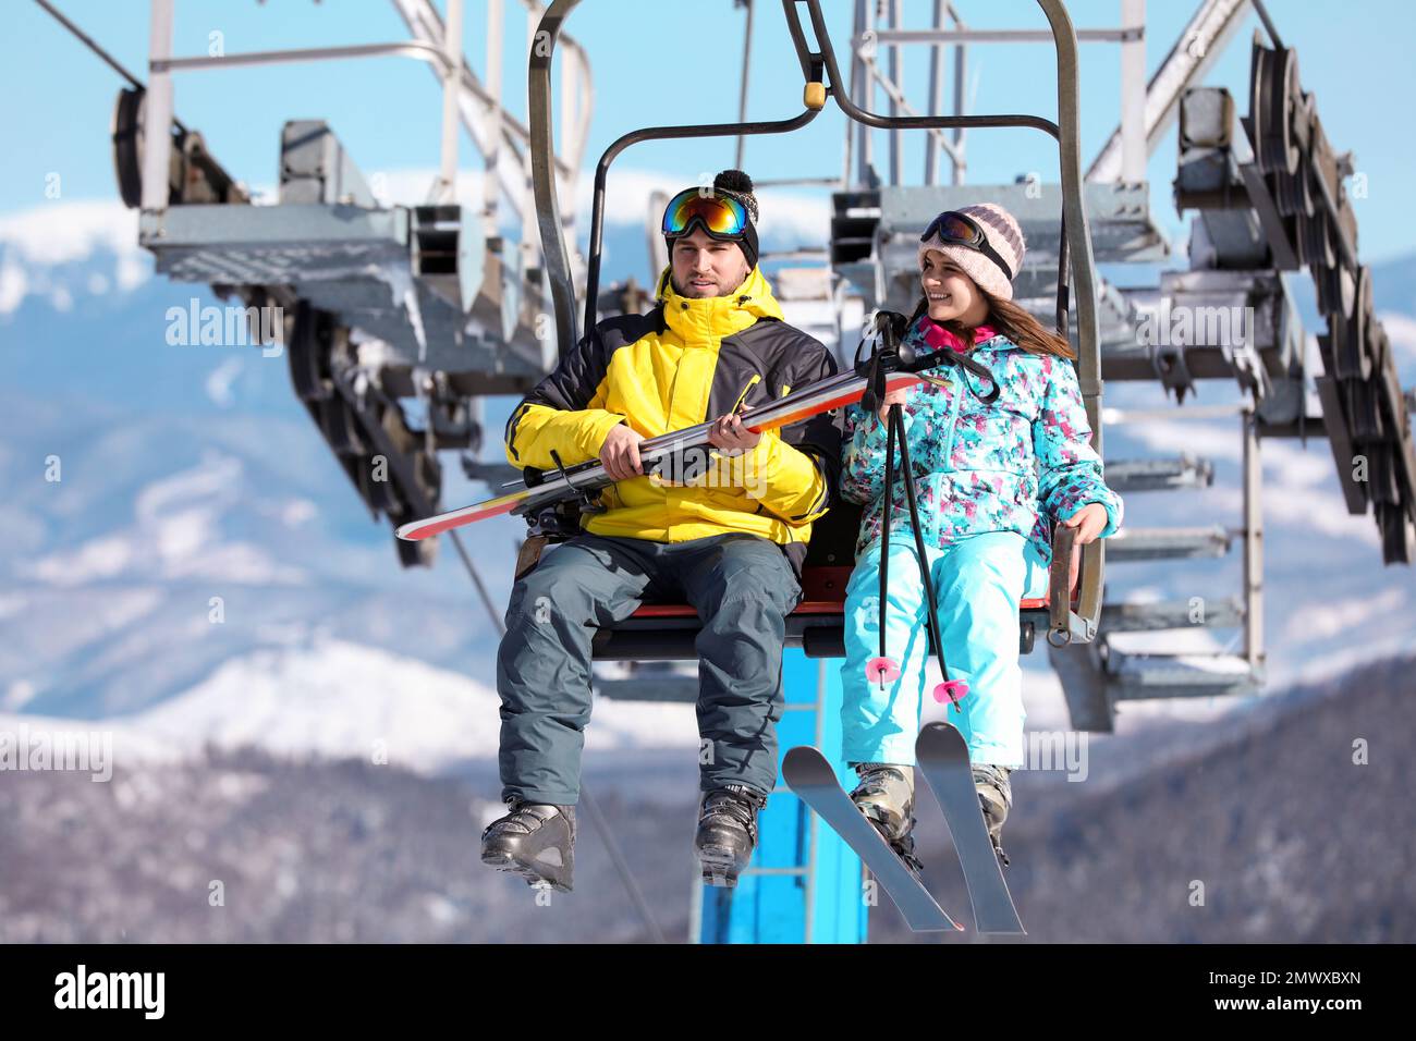
[[[753,40],[750,118],[783,118],[799,110],[800,86],[780,4],[759,0]],[[146,0],[57,0],[81,27],[146,78]],[[851,6],[826,0],[837,48],[844,51]],[[1027,0],[959,0],[971,24],[1042,27]],[[1116,25],[1120,0],[1075,0],[1079,27]],[[1148,61],[1170,48],[1194,4],[1151,0]],[[1328,137],[1357,153],[1368,197],[1357,200],[1364,259],[1379,261],[1416,249],[1416,205],[1409,187],[1416,174],[1416,137],[1410,133],[1410,98],[1416,96],[1416,61],[1410,40],[1416,8],[1403,0],[1349,0],[1334,6],[1313,0],[1270,0],[1286,42],[1296,45],[1304,86],[1318,98]],[[484,3],[469,0],[466,41],[474,67],[484,67]],[[81,48],[31,0],[0,0],[0,115],[6,161],[0,164],[0,212],[45,201],[45,177],[59,173],[67,200],[113,198],[108,146],[109,119],[119,79]],[[927,0],[906,0],[905,20],[919,25]],[[595,67],[596,106],[588,160],[627,129],[671,122],[718,122],[736,116],[743,13],[732,0],[583,0],[569,21]],[[1247,109],[1249,37],[1257,20],[1231,44],[1209,82],[1225,84]],[[227,51],[372,42],[406,38],[387,0],[177,0],[177,52],[205,52],[212,33]],[[507,3],[506,91],[518,109],[525,93],[525,16]],[[1085,154],[1095,154],[1117,120],[1117,50],[1083,45]],[[922,99],[925,55],[906,51],[909,89]],[[981,69],[974,110],[1055,113],[1049,52],[1041,47],[981,45],[973,51]],[[438,160],[439,95],[421,62],[402,58],[268,67],[180,74],[177,112],[205,135],[212,153],[252,184],[276,177],[279,127],[292,118],[327,119],[365,171],[433,167]],[[920,143],[906,149],[906,176],[919,180]],[[794,174],[828,176],[841,166],[843,118],[830,108],[810,127],[787,136],[749,140],[748,170],[758,178]],[[687,181],[701,170],[732,163],[724,142],[654,143],[632,149],[619,169],[680,171]],[[884,139],[878,146],[882,154]],[[977,132],[970,142],[970,180],[1011,181],[1037,170],[1055,180],[1049,139],[1027,130]],[[463,137],[464,169],[480,160]],[[1170,181],[1172,136],[1151,166],[1157,217],[1174,222]]]

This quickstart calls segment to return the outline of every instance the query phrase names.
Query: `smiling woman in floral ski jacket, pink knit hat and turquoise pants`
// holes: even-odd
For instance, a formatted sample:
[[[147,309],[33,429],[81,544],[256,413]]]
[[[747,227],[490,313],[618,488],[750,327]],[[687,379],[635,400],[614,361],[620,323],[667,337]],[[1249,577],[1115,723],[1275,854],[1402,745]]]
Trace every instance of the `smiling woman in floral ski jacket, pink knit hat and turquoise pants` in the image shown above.
[[[861,776],[851,797],[912,868],[910,768],[929,636],[898,449],[893,503],[884,501],[886,408],[902,405],[944,678],[969,686],[949,721],[969,742],[1000,857],[1012,806],[1008,773],[1024,763],[1018,602],[1046,589],[1054,521],[1075,527],[1079,545],[1114,534],[1121,523],[1121,500],[1089,443],[1075,354],[1012,303],[1024,248],[1018,222],[993,204],[940,214],[919,245],[925,296],[908,337],[969,351],[1000,388],[991,404],[966,385],[986,394],[987,381],[956,367],[943,385],[893,391],[879,414],[852,405],[845,416],[841,490],[865,511],[845,595],[844,758]],[[891,517],[885,653],[899,674],[868,678],[867,664],[879,654],[882,516]]]

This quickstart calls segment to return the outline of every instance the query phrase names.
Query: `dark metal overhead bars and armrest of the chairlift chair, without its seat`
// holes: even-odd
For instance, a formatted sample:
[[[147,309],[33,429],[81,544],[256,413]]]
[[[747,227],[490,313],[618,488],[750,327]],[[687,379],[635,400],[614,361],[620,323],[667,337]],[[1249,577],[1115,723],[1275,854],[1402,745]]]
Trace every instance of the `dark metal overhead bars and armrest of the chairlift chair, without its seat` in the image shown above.
[[[541,252],[549,279],[555,331],[561,357],[573,350],[581,334],[576,323],[576,303],[571,275],[571,259],[562,237],[559,205],[555,191],[555,171],[548,156],[554,156],[551,119],[551,64],[555,44],[565,20],[579,6],[581,0],[554,0],[541,18],[537,31],[537,45],[531,50],[528,69],[528,123],[531,129],[531,174],[537,204],[537,222],[541,231]],[[1058,280],[1059,329],[1066,334],[1070,313],[1068,271],[1076,288],[1078,312],[1078,381],[1087,418],[1093,431],[1093,446],[1102,450],[1102,358],[1097,324],[1096,266],[1092,258],[1092,237],[1086,208],[1082,201],[1082,153],[1079,125],[1079,62],[1078,40],[1072,18],[1062,0],[1037,0],[1046,16],[1052,31],[1058,62],[1058,120],[1027,115],[933,115],[933,116],[885,116],[860,108],[850,96],[850,86],[841,78],[835,51],[821,14],[820,0],[782,0],[792,42],[801,65],[804,85],[821,84],[823,72],[828,78],[826,96],[834,98],[850,119],[865,126],[886,130],[936,130],[946,127],[1017,127],[1027,126],[1051,135],[1058,142],[1062,180],[1062,245]],[[818,51],[813,51],[801,28],[800,7],[804,6],[811,21]],[[821,105],[824,108],[824,103]],[[783,120],[759,120],[750,123],[701,123],[683,126],[643,127],[620,136],[600,157],[595,171],[595,194],[590,215],[590,256],[585,288],[585,323],[593,327],[595,305],[599,289],[599,252],[605,220],[605,181],[610,163],[630,144],[641,140],[663,140],[678,137],[728,137],[758,133],[786,133],[804,126],[816,118],[820,108],[810,105],[797,116]],[[1076,609],[1069,610],[1069,620],[1062,629],[1052,629],[1048,642],[1058,644],[1089,642],[1096,636],[1102,612],[1102,579],[1104,569],[1104,547],[1100,540],[1082,547],[1079,571],[1079,598]]]

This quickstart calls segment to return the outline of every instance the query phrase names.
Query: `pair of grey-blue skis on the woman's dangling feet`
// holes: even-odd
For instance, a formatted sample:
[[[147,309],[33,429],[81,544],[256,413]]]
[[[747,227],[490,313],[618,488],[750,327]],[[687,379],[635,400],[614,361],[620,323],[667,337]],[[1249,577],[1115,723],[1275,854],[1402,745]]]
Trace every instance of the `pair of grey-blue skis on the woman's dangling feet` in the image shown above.
[[[920,729],[915,753],[919,770],[949,823],[949,834],[963,864],[976,928],[980,933],[1027,935],[988,837],[963,734],[947,722],[932,722]],[[782,762],[782,776],[801,802],[855,850],[912,931],[963,931],[851,802],[835,776],[835,768],[818,749],[801,745],[789,751]]]

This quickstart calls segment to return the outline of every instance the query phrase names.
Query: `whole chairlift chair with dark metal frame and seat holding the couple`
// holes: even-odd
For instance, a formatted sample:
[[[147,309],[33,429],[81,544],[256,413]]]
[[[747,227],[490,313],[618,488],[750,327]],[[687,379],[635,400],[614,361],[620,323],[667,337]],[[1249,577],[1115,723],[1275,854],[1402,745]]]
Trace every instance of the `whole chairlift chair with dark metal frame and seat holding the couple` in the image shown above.
[[[551,136],[551,62],[556,35],[581,0],[554,0],[541,18],[538,41],[530,64],[530,127],[532,188],[547,275],[555,310],[559,354],[564,357],[579,340],[571,262],[561,234],[555,194]],[[1056,324],[1063,336],[1070,333],[1072,292],[1076,286],[1078,380],[1100,450],[1100,341],[1097,327],[1097,278],[1092,241],[1082,201],[1082,163],[1078,103],[1076,31],[1062,0],[1037,0],[1052,30],[1058,57],[1058,122],[1041,116],[886,116],[860,108],[844,86],[821,14],[820,0],[782,0],[803,75],[803,110],[782,120],[745,123],[700,123],[654,126],[632,130],[617,137],[600,156],[595,169],[593,204],[586,262],[585,329],[596,322],[599,299],[600,249],[605,221],[605,186],[609,167],[630,144],[646,140],[687,137],[736,137],[739,135],[790,133],[810,123],[833,98],[852,120],[879,129],[930,130],[943,127],[1032,127],[1058,142],[1062,181],[1059,278]],[[801,14],[807,16],[816,40],[807,42]],[[1070,275],[1070,278],[1069,278]],[[854,565],[854,545],[861,507],[837,501],[813,525],[811,541],[803,565],[803,599],[787,618],[786,644],[801,647],[809,657],[844,656],[845,585]],[[1031,650],[1038,627],[1054,646],[1087,643],[1096,636],[1102,609],[1104,548],[1100,540],[1079,547],[1078,589],[1068,596],[1075,530],[1054,525],[1054,558],[1048,593],[1027,598],[1020,605],[1022,649]],[[630,618],[600,629],[593,639],[596,660],[692,660],[694,639],[701,627],[695,609],[687,603],[644,603]]]

